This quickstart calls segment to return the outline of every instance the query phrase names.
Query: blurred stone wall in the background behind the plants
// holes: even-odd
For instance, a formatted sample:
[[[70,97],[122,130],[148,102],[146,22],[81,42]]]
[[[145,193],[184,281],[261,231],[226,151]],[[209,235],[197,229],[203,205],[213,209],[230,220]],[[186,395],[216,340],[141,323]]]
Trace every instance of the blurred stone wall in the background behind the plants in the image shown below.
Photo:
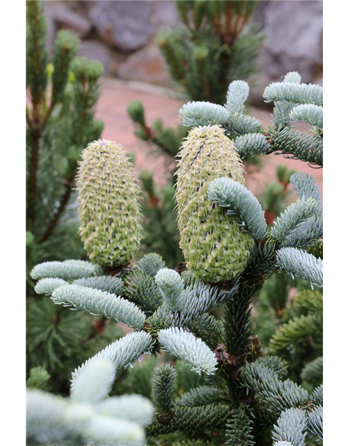
[[[82,40],[80,54],[98,59],[104,75],[168,85],[170,77],[155,44],[156,33],[179,22],[174,1],[46,1],[49,45],[56,31],[70,28]],[[255,21],[267,32],[260,52],[255,97],[287,71],[304,82],[322,77],[322,1],[263,0]]]

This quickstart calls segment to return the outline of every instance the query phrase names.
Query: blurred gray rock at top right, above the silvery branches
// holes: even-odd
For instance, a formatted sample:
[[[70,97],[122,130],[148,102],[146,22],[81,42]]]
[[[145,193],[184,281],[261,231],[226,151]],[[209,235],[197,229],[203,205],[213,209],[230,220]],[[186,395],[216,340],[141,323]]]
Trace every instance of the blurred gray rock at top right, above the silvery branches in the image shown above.
[[[296,70],[310,82],[322,65],[322,1],[270,1],[264,13],[269,76]]]

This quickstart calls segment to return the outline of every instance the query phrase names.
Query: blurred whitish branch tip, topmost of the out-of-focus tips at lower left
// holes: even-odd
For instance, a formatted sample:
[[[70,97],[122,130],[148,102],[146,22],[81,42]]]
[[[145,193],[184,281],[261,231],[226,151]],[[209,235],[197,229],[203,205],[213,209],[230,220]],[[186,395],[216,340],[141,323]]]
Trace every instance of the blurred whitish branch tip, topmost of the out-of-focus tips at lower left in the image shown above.
[[[71,387],[72,400],[99,403],[109,394],[115,376],[116,367],[111,360],[95,357],[74,380]]]

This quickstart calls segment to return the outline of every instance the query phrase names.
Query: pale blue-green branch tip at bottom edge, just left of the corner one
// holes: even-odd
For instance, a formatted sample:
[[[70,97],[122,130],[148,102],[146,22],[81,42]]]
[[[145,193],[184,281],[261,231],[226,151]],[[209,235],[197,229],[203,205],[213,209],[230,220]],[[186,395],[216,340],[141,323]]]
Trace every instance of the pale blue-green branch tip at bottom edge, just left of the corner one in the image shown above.
[[[274,425],[274,441],[289,441],[293,446],[306,446],[306,412],[290,408],[284,410]]]

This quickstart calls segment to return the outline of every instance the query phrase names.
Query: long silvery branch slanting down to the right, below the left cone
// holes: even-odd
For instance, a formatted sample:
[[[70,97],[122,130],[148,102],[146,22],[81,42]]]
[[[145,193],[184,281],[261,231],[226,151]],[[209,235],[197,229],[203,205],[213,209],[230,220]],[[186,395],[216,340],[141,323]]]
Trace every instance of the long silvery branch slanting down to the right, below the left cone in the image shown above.
[[[66,285],[54,290],[52,300],[57,305],[84,309],[96,316],[116,319],[129,327],[141,330],[146,316],[133,302],[87,286]]]

